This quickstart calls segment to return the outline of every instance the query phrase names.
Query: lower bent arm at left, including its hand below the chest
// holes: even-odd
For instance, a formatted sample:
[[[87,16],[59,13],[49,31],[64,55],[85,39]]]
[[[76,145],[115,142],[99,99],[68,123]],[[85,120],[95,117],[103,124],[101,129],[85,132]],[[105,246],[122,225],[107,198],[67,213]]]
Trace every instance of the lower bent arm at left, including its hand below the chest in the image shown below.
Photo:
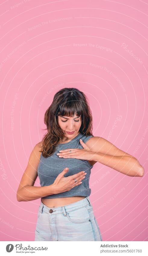
[[[39,152],[40,149],[41,149],[41,142],[36,144],[36,146],[33,148],[30,154],[28,165],[22,176],[20,185],[17,189],[17,201],[19,202],[32,201],[48,195],[69,191],[71,188],[74,188],[75,186],[80,185],[82,183],[81,180],[85,178],[85,173],[83,171],[68,177],[64,177],[65,173],[68,172],[68,170],[64,169],[57,176],[57,178],[55,179],[55,182],[52,185],[43,186],[43,187],[34,187],[34,183],[38,176],[37,168],[39,165],[40,155],[41,155],[41,152]],[[74,179],[76,178],[77,178],[77,183],[74,182]]]

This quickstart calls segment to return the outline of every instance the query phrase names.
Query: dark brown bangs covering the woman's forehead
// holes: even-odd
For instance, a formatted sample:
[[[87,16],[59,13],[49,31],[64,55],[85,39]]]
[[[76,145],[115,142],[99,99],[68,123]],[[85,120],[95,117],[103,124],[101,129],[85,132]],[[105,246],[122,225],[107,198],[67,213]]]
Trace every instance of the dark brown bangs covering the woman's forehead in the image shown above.
[[[84,112],[83,102],[80,100],[69,100],[66,103],[60,104],[56,115],[73,117],[75,114],[80,116]]]

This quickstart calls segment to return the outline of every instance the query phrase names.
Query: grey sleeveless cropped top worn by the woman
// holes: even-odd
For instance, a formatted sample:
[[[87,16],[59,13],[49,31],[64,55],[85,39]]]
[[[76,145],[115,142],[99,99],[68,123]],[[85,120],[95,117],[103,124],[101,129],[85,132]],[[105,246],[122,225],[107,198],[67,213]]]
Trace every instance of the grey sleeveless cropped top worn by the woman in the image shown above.
[[[87,160],[80,160],[76,158],[63,158],[59,157],[57,153],[59,150],[67,149],[67,148],[80,148],[83,149],[80,144],[80,139],[86,143],[93,135],[86,136],[82,133],[79,133],[76,137],[74,137],[71,141],[67,143],[58,144],[55,152],[48,157],[44,157],[41,153],[40,162],[38,165],[38,177],[40,180],[41,186],[49,186],[52,185],[57,178],[58,174],[68,167],[68,172],[64,175],[64,177],[68,177],[69,175],[76,174],[81,171],[87,172],[85,178],[82,180],[82,183],[78,186],[75,186],[69,191],[65,191],[58,194],[48,195],[43,198],[63,198],[63,197],[72,197],[72,196],[90,196],[91,189],[89,188],[89,179],[90,173],[93,165],[91,165]]]

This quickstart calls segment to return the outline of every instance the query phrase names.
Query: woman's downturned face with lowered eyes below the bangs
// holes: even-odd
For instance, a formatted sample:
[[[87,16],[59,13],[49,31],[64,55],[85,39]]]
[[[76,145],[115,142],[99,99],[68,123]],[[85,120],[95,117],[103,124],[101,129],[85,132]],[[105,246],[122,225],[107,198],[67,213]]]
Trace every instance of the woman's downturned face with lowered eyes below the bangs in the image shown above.
[[[73,117],[69,116],[58,116],[58,125],[68,138],[77,136],[81,126],[81,116],[78,117],[76,114]],[[73,133],[68,133],[73,132]]]

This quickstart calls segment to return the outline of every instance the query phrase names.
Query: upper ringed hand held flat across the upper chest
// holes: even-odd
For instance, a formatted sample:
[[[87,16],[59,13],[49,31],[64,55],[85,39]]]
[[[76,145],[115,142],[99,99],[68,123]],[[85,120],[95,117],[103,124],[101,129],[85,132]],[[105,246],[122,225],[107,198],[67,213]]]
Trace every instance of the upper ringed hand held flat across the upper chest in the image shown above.
[[[92,157],[95,152],[90,151],[89,147],[80,140],[80,144],[82,145],[83,149],[79,148],[67,148],[63,150],[59,150],[61,153],[57,153],[59,157],[63,158],[77,158],[81,160],[93,160]],[[69,152],[71,150],[71,153]]]

